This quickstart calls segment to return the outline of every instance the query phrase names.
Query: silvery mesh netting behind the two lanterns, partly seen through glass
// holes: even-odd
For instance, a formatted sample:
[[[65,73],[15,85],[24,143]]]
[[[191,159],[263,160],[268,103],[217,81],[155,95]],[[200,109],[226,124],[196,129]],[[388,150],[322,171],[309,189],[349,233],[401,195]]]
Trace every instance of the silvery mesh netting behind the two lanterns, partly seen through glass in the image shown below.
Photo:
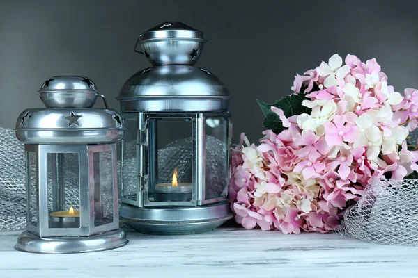
[[[0,231],[24,229],[26,227],[26,163],[24,144],[15,137],[15,131],[0,128]],[[188,174],[187,169],[192,169],[192,152],[185,152],[186,146],[190,146],[191,138],[176,140],[158,150],[159,178],[171,178],[172,171],[178,167],[179,174]],[[127,146],[128,157],[125,161],[127,169],[136,169],[135,144]],[[164,159],[162,159],[164,158]],[[169,158],[169,159],[167,159]],[[215,137],[206,137],[206,197],[219,197],[226,194],[226,146]],[[79,202],[78,190],[78,161],[76,156],[65,158],[68,162],[65,174],[65,204],[70,206]],[[106,160],[111,167],[110,161]],[[32,161],[31,165],[34,165]],[[49,181],[52,180],[52,165],[48,165]],[[31,169],[35,170],[35,169]],[[118,179],[121,179],[120,161],[118,161]],[[137,172],[132,170],[125,173],[125,181],[128,186],[136,190]],[[102,182],[106,182],[103,181]],[[121,182],[118,181],[120,186]],[[119,193],[121,188],[119,188]],[[49,204],[52,203],[52,194],[49,194]],[[104,202],[112,202],[107,199],[111,195],[106,194]],[[123,225],[122,225],[123,226]]]

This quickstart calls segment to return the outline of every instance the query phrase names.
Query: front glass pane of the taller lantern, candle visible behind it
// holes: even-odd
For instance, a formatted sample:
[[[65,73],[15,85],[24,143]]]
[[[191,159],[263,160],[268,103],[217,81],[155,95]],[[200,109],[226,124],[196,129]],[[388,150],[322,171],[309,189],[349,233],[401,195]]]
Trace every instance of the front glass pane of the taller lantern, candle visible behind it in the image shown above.
[[[151,202],[189,202],[194,162],[192,118],[148,119],[148,198]]]

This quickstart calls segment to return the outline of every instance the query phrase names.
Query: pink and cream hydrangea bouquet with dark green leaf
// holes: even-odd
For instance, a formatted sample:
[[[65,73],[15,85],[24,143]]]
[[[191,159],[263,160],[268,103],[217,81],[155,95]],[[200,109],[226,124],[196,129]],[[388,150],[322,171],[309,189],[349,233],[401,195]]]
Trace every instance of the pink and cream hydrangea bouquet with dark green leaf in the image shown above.
[[[246,229],[325,233],[373,178],[417,177],[418,90],[396,92],[376,59],[334,54],[297,74],[288,95],[265,114],[259,145],[233,153],[229,196]]]

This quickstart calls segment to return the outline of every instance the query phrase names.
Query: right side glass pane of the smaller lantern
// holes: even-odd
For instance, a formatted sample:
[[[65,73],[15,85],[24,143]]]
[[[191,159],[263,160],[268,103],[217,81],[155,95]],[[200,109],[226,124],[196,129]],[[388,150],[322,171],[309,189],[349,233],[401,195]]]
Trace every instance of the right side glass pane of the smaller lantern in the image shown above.
[[[94,183],[94,225],[112,223],[113,204],[113,165],[111,152],[93,153]]]

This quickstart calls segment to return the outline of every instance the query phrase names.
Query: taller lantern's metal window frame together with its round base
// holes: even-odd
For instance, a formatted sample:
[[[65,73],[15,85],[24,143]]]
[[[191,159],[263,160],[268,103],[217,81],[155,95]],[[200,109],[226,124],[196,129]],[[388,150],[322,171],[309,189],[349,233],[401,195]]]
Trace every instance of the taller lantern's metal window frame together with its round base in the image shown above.
[[[189,234],[215,229],[226,220],[232,218],[229,211],[228,197],[205,198],[206,192],[206,130],[205,120],[208,116],[224,117],[228,140],[226,142],[226,165],[229,165],[232,124],[231,114],[226,111],[204,112],[137,112],[121,113],[123,120],[138,120],[137,126],[137,196],[136,200],[125,197],[124,147],[125,140],[121,142],[121,220],[134,229],[150,234]],[[192,119],[191,136],[194,156],[192,156],[192,199],[190,201],[154,202],[149,200],[150,172],[155,173],[153,156],[157,155],[155,143],[155,129],[150,119]],[[194,131],[194,132],[193,132]],[[229,179],[229,169],[226,174],[226,184]],[[148,183],[147,183],[148,181]]]

